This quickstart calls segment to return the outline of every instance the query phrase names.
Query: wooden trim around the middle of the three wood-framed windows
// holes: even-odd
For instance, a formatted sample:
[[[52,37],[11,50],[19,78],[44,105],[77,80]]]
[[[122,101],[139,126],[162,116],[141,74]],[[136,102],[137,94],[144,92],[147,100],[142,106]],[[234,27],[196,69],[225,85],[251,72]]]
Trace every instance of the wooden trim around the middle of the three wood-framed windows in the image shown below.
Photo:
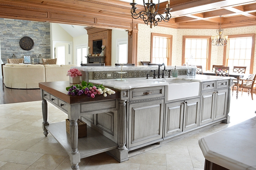
[[[210,70],[211,68],[211,37],[209,36],[183,36],[182,40],[182,65],[185,64],[185,42],[186,39],[208,39],[208,53],[207,53],[207,59],[206,59],[206,70]]]

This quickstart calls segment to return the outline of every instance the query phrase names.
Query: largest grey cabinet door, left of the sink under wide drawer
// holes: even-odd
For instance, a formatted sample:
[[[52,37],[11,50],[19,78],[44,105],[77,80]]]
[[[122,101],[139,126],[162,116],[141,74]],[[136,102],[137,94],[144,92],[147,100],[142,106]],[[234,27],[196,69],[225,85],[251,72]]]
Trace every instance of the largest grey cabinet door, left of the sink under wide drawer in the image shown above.
[[[129,105],[127,148],[163,138],[164,100]]]

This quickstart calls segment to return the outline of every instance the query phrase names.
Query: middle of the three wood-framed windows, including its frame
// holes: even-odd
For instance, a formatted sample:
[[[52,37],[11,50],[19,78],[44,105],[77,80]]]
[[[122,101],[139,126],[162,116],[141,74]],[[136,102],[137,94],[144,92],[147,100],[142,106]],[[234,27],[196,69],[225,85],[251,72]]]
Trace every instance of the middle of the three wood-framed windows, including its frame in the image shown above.
[[[202,70],[210,70],[211,44],[209,36],[183,36],[182,64],[193,58],[194,64]]]

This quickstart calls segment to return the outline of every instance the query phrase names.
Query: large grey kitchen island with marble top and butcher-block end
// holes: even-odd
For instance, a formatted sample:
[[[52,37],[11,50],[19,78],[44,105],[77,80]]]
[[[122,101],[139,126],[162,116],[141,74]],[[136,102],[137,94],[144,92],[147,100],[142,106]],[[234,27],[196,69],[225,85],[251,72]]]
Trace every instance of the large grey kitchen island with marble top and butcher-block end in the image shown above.
[[[140,75],[136,74],[136,71],[152,69],[150,67],[135,68],[125,69],[127,72],[133,71],[132,76]],[[108,74],[104,70],[100,71],[102,68],[97,68],[99,70],[94,68],[95,71],[92,71],[93,68],[86,69],[90,69],[92,73],[99,71],[101,75]],[[109,69],[114,73],[120,68]],[[85,68],[81,70],[85,71]],[[182,68],[179,73],[178,78],[153,79],[149,76],[149,79],[145,77],[124,80],[120,78],[90,79],[89,82],[103,84],[116,91],[116,95],[110,95],[111,98],[104,99],[96,96],[93,100],[86,100],[85,96],[67,95],[66,87],[70,86],[68,82],[40,83],[44,134],[47,136],[49,131],[61,143],[69,153],[72,168],[78,169],[80,158],[107,151],[118,162],[124,162],[129,158],[129,151],[155,143],[166,143],[221,122],[228,123],[232,78],[187,76],[182,75],[186,73]],[[170,83],[173,81],[180,84]],[[167,95],[171,92],[169,87],[183,86],[185,85],[183,82],[187,85],[190,85],[189,82],[197,82],[198,89],[189,88],[189,91],[197,90],[197,92],[192,96],[178,95],[177,97],[175,95],[175,98],[168,98]],[[63,125],[55,126],[47,122],[47,102],[54,104],[68,115],[71,120],[70,137]],[[90,127],[89,129],[96,131],[97,134],[88,134],[87,137],[78,139],[76,120],[79,116],[82,116],[88,128]],[[62,131],[61,135],[59,135],[60,131]],[[101,137],[98,138],[98,136]],[[88,138],[94,138],[94,142],[92,143],[93,140],[89,142]],[[106,141],[109,143],[108,146],[105,145]],[[88,143],[92,144],[89,148]],[[99,146],[102,148],[99,149]]]

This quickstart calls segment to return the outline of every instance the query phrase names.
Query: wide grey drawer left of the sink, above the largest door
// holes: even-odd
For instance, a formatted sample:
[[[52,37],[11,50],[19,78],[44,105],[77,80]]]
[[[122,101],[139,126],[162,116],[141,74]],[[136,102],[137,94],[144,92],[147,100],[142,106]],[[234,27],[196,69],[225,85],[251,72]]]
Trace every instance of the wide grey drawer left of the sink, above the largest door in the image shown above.
[[[130,90],[130,100],[164,97],[164,86],[135,88]]]

